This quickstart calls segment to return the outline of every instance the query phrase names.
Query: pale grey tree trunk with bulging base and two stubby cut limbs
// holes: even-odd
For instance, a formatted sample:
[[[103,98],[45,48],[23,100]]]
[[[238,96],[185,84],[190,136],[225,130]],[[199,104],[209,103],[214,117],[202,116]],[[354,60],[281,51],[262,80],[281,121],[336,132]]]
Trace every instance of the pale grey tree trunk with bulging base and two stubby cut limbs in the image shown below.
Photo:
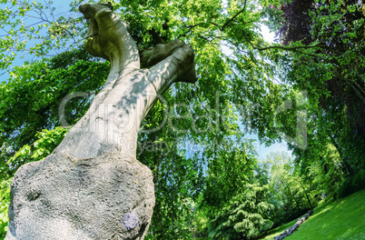
[[[140,55],[110,4],[80,5],[85,49],[111,62],[86,115],[43,161],[23,165],[11,189],[6,240],[143,239],[153,215],[151,170],[137,134],[158,95],[196,81],[191,45],[175,40]],[[151,66],[140,69],[140,64]]]

